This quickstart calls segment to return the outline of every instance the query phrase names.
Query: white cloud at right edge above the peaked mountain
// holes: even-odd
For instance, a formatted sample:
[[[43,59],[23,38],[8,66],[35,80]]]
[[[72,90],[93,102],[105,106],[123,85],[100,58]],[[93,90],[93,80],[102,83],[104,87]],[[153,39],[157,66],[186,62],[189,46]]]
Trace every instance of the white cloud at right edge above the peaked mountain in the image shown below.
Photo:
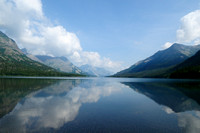
[[[193,11],[181,18],[181,27],[177,30],[177,41],[197,44],[200,41],[200,10]]]

